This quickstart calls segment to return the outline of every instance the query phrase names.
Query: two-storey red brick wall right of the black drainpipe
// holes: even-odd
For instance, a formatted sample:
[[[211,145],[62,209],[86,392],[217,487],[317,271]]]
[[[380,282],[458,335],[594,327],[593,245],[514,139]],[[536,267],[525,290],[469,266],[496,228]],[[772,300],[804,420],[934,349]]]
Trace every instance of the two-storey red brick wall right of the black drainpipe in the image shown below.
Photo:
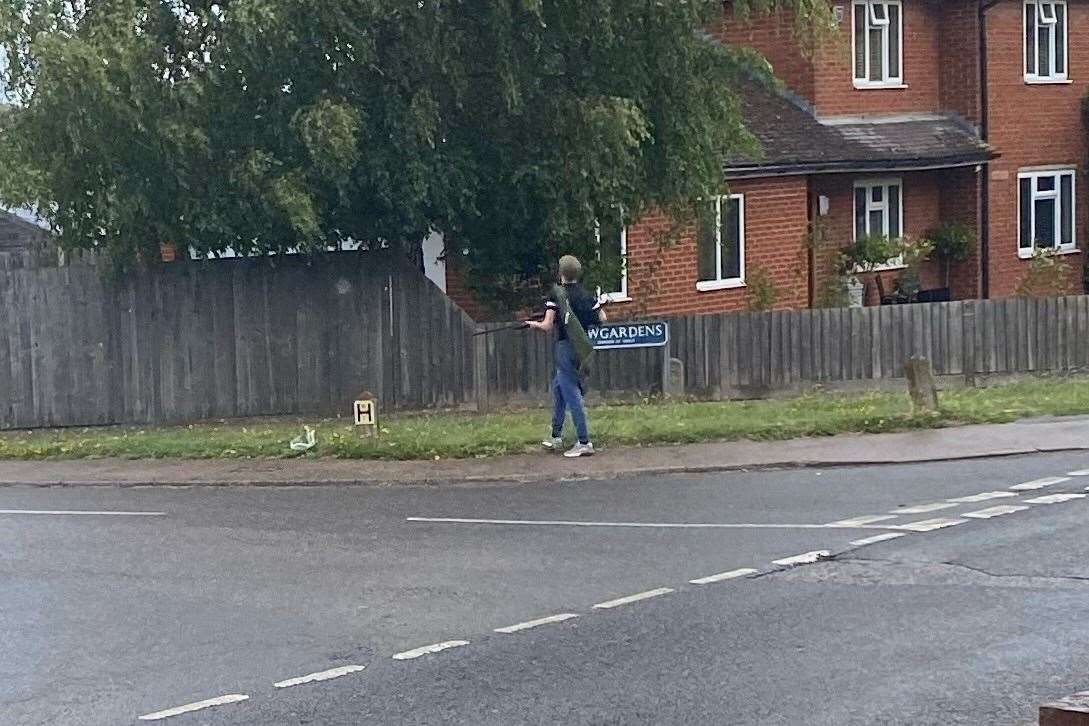
[[[1089,90],[1089,3],[1072,0],[1072,84],[1029,85],[1024,79],[1021,2],[1003,0],[987,13],[988,140],[1002,155],[990,164],[990,296],[1017,291],[1026,260],[1017,257],[1017,172],[1026,167],[1064,164],[1085,169],[1086,130],[1081,98]],[[1078,247],[1086,244],[1089,204],[1086,175],[1076,180]],[[1068,255],[1070,290],[1080,292],[1082,254]]]

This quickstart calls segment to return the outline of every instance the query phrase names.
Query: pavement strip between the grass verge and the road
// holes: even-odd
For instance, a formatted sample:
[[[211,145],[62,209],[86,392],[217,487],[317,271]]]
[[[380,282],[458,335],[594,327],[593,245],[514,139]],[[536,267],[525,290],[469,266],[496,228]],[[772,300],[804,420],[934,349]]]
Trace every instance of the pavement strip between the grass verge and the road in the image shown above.
[[[0,462],[0,485],[305,485],[549,482],[666,473],[708,473],[840,465],[949,462],[1089,450],[1089,417],[843,434],[787,441],[732,441],[616,447],[564,459],[527,454],[438,462],[294,459],[76,459]]]

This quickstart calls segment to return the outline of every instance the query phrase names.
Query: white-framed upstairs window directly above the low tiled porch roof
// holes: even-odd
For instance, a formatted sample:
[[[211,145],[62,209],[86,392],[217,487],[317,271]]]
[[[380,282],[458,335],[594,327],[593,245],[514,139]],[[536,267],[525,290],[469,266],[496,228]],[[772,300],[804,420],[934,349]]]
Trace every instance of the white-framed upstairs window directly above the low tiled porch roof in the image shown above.
[[[904,83],[904,29],[900,0],[855,0],[853,46],[855,85],[861,88]]]

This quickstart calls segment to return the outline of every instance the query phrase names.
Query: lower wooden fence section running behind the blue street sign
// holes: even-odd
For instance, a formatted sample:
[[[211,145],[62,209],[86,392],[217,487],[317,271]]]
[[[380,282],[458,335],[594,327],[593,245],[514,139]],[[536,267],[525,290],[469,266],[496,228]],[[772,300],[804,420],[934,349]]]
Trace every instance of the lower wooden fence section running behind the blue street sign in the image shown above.
[[[938,376],[1089,369],[1089,297],[1010,298],[827,310],[666,318],[665,350],[599,350],[591,391],[660,391],[666,357],[684,367],[684,393],[697,398],[758,397],[818,384],[904,377],[910,356]],[[478,339],[479,340],[479,339]],[[551,345],[534,331],[487,336],[486,399],[542,399]]]

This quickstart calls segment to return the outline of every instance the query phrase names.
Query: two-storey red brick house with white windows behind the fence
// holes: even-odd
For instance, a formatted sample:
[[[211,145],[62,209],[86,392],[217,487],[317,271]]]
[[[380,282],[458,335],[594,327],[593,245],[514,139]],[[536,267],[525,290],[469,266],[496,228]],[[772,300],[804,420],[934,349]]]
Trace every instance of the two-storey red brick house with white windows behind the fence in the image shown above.
[[[919,237],[946,222],[978,237],[952,268],[953,298],[1015,294],[1040,247],[1061,254],[1080,293],[1089,35],[1069,28],[1089,27],[1089,0],[830,2],[842,42],[809,56],[791,19],[743,22],[726,3],[711,35],[762,53],[785,87],[738,89],[763,153],[727,160],[723,196],[674,229],[676,244],[659,245],[675,225],[653,214],[602,230],[603,250],[626,260],[604,291],[613,313],[744,309],[757,285],[776,308],[813,306],[859,235]],[[890,260],[882,281],[901,268]],[[877,303],[873,275],[860,276]],[[945,286],[937,262],[921,276]],[[464,297],[456,282],[449,291]]]

